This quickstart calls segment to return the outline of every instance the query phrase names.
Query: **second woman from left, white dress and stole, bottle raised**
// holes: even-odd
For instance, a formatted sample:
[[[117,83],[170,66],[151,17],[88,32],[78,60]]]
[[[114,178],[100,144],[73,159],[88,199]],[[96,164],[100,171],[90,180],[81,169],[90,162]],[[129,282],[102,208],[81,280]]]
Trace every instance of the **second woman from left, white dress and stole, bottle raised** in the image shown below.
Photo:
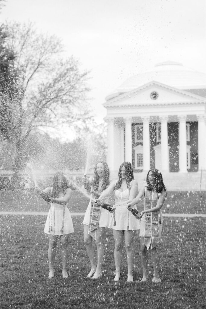
[[[94,203],[95,198],[109,185],[109,168],[106,162],[99,161],[95,167],[94,177],[82,177],[82,182],[88,193],[91,193],[89,205],[86,209],[84,224],[84,243],[89,256],[91,270],[87,278],[98,279],[102,276],[101,268],[104,256],[104,239],[106,227],[108,227],[111,214]],[[97,266],[95,262],[95,252],[92,239],[97,246]]]

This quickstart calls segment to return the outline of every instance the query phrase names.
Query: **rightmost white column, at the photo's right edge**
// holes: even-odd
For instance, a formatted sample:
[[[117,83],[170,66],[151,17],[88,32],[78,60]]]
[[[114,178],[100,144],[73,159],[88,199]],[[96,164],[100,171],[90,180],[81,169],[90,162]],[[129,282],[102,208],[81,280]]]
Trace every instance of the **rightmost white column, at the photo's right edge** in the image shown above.
[[[205,170],[205,116],[198,118],[198,170]]]

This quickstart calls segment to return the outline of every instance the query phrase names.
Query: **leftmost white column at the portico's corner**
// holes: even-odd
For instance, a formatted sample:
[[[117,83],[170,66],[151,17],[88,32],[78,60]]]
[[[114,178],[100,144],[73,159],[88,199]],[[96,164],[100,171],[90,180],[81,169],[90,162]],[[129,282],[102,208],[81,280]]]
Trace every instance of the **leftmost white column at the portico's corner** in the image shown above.
[[[110,171],[114,170],[114,119],[106,118],[107,122],[107,164]]]

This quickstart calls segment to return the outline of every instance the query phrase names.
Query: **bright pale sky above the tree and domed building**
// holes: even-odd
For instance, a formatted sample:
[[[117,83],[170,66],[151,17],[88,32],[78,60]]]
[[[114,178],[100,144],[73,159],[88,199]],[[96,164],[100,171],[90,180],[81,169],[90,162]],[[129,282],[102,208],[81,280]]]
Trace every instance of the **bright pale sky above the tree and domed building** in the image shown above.
[[[1,22],[32,21],[62,38],[68,56],[91,70],[91,105],[162,61],[205,72],[205,0],[6,0]]]

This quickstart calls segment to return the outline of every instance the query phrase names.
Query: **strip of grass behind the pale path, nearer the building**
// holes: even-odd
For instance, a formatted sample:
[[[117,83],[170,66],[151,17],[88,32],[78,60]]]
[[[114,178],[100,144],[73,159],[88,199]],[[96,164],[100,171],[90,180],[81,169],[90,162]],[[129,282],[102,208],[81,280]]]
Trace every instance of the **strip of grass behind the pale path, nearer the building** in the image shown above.
[[[69,201],[70,212],[85,212],[89,199],[77,190]],[[143,209],[143,201],[138,204]],[[49,204],[33,190],[1,191],[1,211],[47,212]],[[162,211],[168,214],[205,214],[205,191],[169,191]]]

